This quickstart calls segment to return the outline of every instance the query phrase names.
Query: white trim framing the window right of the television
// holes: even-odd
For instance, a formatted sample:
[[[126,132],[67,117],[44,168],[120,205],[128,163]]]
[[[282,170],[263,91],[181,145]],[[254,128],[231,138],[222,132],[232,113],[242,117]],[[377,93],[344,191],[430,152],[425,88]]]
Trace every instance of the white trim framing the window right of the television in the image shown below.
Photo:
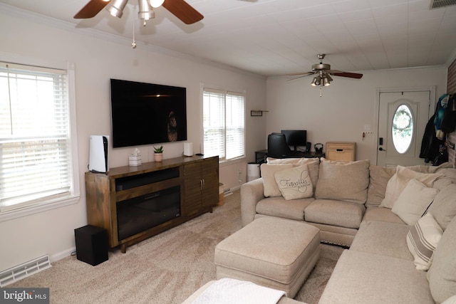
[[[244,161],[244,159],[247,159],[247,114],[246,114],[246,109],[247,109],[247,91],[246,90],[241,90],[241,89],[236,89],[236,88],[223,88],[220,85],[211,85],[207,83],[201,83],[200,84],[200,101],[201,101],[201,142],[202,142],[202,153],[204,153],[204,123],[203,123],[203,115],[204,115],[204,89],[207,89],[212,92],[223,92],[223,93],[234,93],[234,94],[239,94],[239,95],[244,95],[244,155],[240,157],[235,157],[232,159],[219,159],[219,164],[223,166],[227,164],[235,164],[238,162]],[[225,138],[226,140],[226,138]]]

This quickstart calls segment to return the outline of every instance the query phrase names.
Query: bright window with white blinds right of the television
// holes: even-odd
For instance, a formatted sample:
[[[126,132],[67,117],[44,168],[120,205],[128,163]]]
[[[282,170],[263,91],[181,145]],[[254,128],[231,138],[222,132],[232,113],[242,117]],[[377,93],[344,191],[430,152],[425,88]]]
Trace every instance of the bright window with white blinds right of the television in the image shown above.
[[[203,89],[203,150],[221,162],[245,156],[245,94]]]

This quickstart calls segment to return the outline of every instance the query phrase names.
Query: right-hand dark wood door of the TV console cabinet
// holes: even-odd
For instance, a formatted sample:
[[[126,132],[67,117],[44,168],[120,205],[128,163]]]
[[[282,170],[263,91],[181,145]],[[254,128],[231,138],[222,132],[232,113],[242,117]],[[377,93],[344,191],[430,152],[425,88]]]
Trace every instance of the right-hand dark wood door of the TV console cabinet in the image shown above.
[[[203,179],[202,204],[215,206],[219,202],[219,159],[218,157],[204,160],[201,163]]]

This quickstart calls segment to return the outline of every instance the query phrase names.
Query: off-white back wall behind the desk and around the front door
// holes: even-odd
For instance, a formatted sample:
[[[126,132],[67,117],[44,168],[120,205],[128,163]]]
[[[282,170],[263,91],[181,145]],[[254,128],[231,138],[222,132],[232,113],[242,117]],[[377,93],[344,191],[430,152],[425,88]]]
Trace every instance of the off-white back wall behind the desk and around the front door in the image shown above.
[[[446,92],[447,68],[411,68],[362,72],[363,78],[333,77],[330,86],[312,87],[311,76],[286,81],[268,78],[266,135],[284,129],[305,129],[312,150],[317,142],[356,142],[356,159],[375,163],[375,96],[378,88],[436,86],[436,98]],[[434,109],[431,110],[433,112]],[[363,140],[365,125],[373,134]]]

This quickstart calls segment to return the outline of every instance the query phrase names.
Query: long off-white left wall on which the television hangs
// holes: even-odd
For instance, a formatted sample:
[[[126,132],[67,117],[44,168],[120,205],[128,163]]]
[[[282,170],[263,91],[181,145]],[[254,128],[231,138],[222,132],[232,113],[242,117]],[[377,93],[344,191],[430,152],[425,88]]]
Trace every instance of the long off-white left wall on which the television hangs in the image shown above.
[[[32,258],[49,254],[51,260],[68,255],[74,248],[74,232],[87,223],[84,172],[88,164],[88,138],[90,135],[110,135],[109,80],[118,78],[147,83],[177,85],[187,88],[187,135],[193,142],[194,152],[202,144],[202,109],[200,86],[202,83],[219,88],[245,90],[247,112],[264,108],[266,80],[264,77],[192,60],[163,51],[147,51],[138,43],[95,38],[99,33],[76,28],[68,23],[43,19],[41,16],[24,16],[23,13],[2,11],[0,7],[0,61],[66,68],[67,62],[76,67],[76,109],[78,132],[78,161],[81,199],[77,204],[41,212],[19,219],[0,222],[0,271]],[[104,37],[104,36],[103,36]],[[252,117],[253,118],[253,117]],[[237,172],[254,159],[254,150],[264,146],[266,121],[247,116],[247,155],[222,165],[220,181],[227,187],[239,186]],[[182,142],[165,144],[165,158],[180,156]],[[142,161],[152,161],[152,146],[138,147]],[[128,154],[134,147],[110,149],[110,167],[128,164]],[[245,180],[245,177],[242,177]]]

